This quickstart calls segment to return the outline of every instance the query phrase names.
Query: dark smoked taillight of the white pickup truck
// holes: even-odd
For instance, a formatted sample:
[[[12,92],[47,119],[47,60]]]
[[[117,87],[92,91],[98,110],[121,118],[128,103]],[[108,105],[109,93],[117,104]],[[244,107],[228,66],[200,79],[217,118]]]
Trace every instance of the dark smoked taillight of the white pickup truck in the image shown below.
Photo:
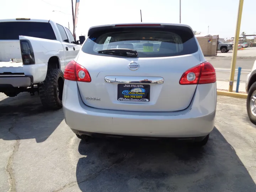
[[[23,65],[35,64],[34,51],[30,41],[20,40],[20,48]]]

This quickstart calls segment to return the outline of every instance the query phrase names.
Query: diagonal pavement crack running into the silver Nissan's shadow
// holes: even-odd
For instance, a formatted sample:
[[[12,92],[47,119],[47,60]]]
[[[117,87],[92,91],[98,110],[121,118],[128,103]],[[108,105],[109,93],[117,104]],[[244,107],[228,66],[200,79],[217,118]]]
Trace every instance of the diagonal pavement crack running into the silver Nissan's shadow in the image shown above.
[[[107,171],[108,169],[111,169],[114,165],[120,164],[121,162],[125,161],[130,156],[132,156],[132,154],[129,154],[129,155],[126,154],[122,158],[118,158],[116,161],[114,161],[110,166],[108,166],[104,169],[101,169],[101,170],[97,171],[94,174],[87,175],[84,179],[82,179],[80,181],[73,181],[73,182],[70,182],[70,183],[66,183],[63,187],[61,187],[58,190],[55,190],[53,192],[60,192],[60,191],[64,190],[65,188],[72,187],[76,184],[80,184],[80,183],[95,179],[100,175],[101,172]]]

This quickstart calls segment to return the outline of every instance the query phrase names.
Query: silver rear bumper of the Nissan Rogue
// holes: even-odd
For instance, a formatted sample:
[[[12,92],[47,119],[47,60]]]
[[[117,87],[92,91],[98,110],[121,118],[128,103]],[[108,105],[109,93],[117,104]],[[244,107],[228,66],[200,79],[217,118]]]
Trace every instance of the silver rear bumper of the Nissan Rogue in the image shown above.
[[[213,83],[198,85],[191,104],[178,112],[103,110],[86,106],[76,82],[65,80],[63,110],[68,126],[78,132],[142,137],[201,137],[209,134],[214,127],[216,101],[216,83]]]

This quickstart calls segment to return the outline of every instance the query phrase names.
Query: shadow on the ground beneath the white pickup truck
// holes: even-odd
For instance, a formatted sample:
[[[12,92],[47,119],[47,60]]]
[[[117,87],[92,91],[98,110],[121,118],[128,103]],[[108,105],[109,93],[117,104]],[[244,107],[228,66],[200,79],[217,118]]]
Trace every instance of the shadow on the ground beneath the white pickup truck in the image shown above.
[[[3,95],[1,95],[3,96]],[[43,108],[39,96],[21,93],[0,100],[0,139],[45,141],[63,121],[63,110]]]

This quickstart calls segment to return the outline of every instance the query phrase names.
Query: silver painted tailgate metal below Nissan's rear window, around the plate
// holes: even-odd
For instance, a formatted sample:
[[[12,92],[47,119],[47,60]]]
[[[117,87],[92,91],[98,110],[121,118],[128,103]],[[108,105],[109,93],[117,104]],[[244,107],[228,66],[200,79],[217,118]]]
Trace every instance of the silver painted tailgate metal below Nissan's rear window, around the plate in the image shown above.
[[[132,61],[140,65],[138,70],[128,69],[128,64]],[[90,83],[78,82],[82,100],[88,106],[124,111],[180,111],[190,104],[197,85],[180,85],[179,80],[186,70],[199,65],[201,60],[198,52],[158,58],[120,58],[80,52],[76,62],[89,71],[92,79]],[[118,101],[118,83],[106,82],[106,76],[126,76],[127,82],[134,78],[161,77],[164,83],[150,84],[149,102]],[[134,84],[137,84],[136,81]],[[98,97],[101,102],[86,100],[85,97]]]

